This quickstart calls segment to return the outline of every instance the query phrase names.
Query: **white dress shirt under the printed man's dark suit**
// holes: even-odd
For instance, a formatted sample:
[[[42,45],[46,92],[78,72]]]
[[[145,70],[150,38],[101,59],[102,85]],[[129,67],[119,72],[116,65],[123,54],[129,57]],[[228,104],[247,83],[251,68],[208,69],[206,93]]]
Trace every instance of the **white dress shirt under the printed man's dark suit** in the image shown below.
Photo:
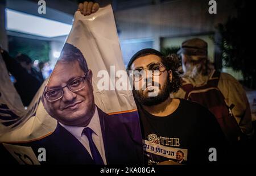
[[[84,145],[85,149],[90,154],[90,157],[92,157],[92,153],[90,152],[89,140],[84,134],[82,134],[82,131],[86,127],[74,127],[74,126],[64,125],[61,123],[60,123],[60,125],[63,126],[65,129],[67,129],[67,131],[69,131],[73,136],[75,136],[76,139],[79,140],[82,145]],[[90,123],[88,124],[87,127],[92,129],[93,143],[96,145],[98,152],[100,152],[102,160],[103,160],[104,164],[106,165],[104,142],[103,142],[103,137],[102,137],[102,133],[101,133],[101,124],[100,124],[100,118],[98,116],[97,107],[95,108],[94,115],[93,115],[92,119],[90,120]]]

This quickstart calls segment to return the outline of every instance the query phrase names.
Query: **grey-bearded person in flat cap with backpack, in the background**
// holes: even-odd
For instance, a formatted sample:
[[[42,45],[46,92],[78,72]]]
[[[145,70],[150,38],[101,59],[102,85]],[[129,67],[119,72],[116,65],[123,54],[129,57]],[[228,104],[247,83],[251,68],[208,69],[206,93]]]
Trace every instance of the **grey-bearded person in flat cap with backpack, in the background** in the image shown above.
[[[243,90],[242,85],[230,74],[219,73],[214,69],[213,64],[210,63],[208,58],[208,44],[204,40],[198,38],[189,39],[181,44],[181,48],[177,54],[181,56],[184,75],[183,85],[174,96],[178,98],[192,99],[189,97],[189,95],[192,94],[192,91],[194,93],[195,91],[201,91],[202,89],[214,89],[220,91],[220,94],[224,97],[224,103],[229,107],[228,113],[226,114],[224,113],[224,111],[226,111],[225,108],[219,110],[216,109],[216,107],[221,106],[220,100],[214,102],[214,98],[216,98],[217,95],[214,96],[213,94],[205,93],[204,95],[201,95],[200,99],[194,98],[192,100],[203,104],[213,112],[219,120],[226,137],[233,143],[235,140],[241,140],[241,137],[246,139],[253,136],[254,131],[251,122],[250,106],[245,90]],[[222,113],[222,117],[220,116],[220,112]],[[228,124],[232,123],[232,121],[229,121],[231,120],[228,117],[229,115],[234,116],[234,123],[239,125],[240,128],[238,125],[237,128],[242,132],[242,136],[237,135],[238,137],[236,139],[232,137],[236,135],[235,131],[237,129],[234,125]]]

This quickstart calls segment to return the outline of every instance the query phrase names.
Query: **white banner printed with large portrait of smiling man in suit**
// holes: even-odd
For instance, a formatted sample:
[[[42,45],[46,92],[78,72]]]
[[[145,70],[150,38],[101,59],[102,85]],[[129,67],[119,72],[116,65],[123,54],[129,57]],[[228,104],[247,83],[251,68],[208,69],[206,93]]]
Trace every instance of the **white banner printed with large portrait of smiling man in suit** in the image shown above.
[[[127,89],[110,5],[89,16],[75,13],[55,69],[26,110],[0,61],[2,156],[13,157],[19,164],[142,162],[137,107]],[[85,127],[91,136],[83,138]],[[95,159],[90,137],[100,160]]]

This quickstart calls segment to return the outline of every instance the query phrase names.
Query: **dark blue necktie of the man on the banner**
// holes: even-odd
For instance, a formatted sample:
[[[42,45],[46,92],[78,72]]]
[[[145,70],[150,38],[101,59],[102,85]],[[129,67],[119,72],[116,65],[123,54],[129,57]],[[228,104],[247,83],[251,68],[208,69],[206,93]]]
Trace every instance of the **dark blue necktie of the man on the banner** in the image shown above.
[[[90,145],[90,153],[92,153],[92,157],[93,157],[95,164],[103,165],[104,162],[101,158],[101,154],[100,154],[100,152],[98,152],[98,149],[92,140],[92,133],[93,133],[92,129],[87,127],[82,131],[82,133],[84,133],[84,135],[88,138],[89,145]]]

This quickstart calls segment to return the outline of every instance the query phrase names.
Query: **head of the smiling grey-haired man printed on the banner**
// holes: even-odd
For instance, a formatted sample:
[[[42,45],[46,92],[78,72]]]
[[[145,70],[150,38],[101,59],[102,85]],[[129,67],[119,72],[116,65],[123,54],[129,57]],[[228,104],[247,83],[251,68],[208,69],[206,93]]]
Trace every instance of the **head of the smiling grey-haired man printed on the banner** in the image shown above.
[[[49,115],[64,125],[87,126],[94,115],[92,70],[79,49],[66,43],[43,94]]]

